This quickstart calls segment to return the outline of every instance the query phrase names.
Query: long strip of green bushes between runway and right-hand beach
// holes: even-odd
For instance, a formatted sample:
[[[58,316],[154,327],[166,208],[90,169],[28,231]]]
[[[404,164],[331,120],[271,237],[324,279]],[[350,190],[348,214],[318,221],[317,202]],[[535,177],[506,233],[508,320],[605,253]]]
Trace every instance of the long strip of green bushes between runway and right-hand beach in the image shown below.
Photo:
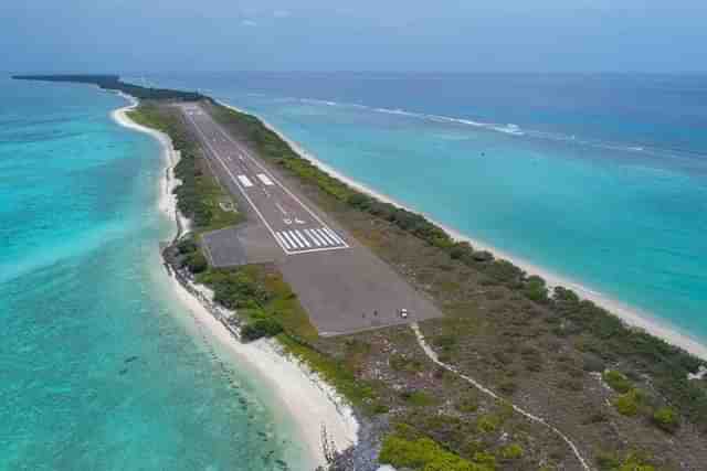
[[[465,242],[452,240],[421,215],[349,188],[299,158],[257,118],[218,105],[213,105],[211,111],[215,119],[249,141],[262,157],[271,159],[303,183],[314,185],[336,201],[391,223],[443,250],[450,259],[477,270],[484,277],[483,285],[505,287],[538,308],[547,309],[549,322],[555,325],[553,333],[561,338],[581,335],[588,349],[585,353],[593,355],[584,363],[587,371],[600,371],[604,363],[622,358],[626,368],[650,375],[657,393],[674,404],[680,415],[707,430],[707,394],[696,382],[687,381],[687,373],[695,372],[700,364],[696,357],[645,332],[625,327],[619,318],[591,301],[580,299],[569,289],[557,287],[549,292],[540,277],[528,276],[513,264],[497,260],[492,254],[476,250]],[[534,311],[538,312],[538,308]],[[453,347],[453,343],[449,345],[445,349]],[[449,352],[443,354],[450,358]],[[539,371],[537,360],[528,358],[528,371]],[[624,385],[618,384],[618,387],[624,388]]]

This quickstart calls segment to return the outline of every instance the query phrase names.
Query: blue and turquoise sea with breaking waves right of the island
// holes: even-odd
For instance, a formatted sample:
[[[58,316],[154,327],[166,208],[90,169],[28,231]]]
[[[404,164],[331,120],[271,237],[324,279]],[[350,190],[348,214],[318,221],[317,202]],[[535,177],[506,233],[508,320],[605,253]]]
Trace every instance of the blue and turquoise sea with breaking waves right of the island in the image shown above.
[[[166,74],[707,343],[707,75]]]

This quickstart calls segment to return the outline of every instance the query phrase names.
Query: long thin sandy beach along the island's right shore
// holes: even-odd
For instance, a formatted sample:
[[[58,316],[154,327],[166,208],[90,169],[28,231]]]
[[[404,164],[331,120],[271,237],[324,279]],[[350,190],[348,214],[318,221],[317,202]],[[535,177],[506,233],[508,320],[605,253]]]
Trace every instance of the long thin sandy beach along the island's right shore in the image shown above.
[[[569,280],[567,278],[562,278],[559,275],[552,274],[550,270],[544,269],[541,267],[538,267],[534,264],[530,264],[519,257],[515,257],[515,256],[510,256],[509,254],[504,253],[503,250],[498,250],[497,248],[493,247],[489,244],[485,244],[483,242],[479,242],[477,239],[474,239],[471,236],[464,235],[462,234],[460,231],[456,231],[452,227],[449,227],[444,224],[439,223],[436,220],[434,220],[433,217],[431,217],[430,215],[415,211],[411,207],[405,206],[404,204],[401,204],[400,202],[395,201],[393,197],[372,190],[371,188],[367,186],[363,183],[360,183],[358,181],[356,181],[352,178],[349,178],[345,174],[342,174],[341,172],[335,170],[334,168],[331,168],[330,165],[321,162],[320,160],[318,160],[315,156],[313,156],[310,152],[306,151],[305,149],[303,149],[297,142],[293,141],[292,139],[289,139],[285,133],[283,133],[282,131],[279,131],[275,126],[271,125],[270,122],[267,122],[263,117],[254,114],[254,113],[250,113],[246,111],[244,109],[240,109],[235,106],[232,106],[230,104],[226,104],[222,100],[217,100],[220,105],[226,107],[226,108],[231,108],[234,111],[238,113],[242,113],[242,114],[249,114],[252,116],[257,117],[257,119],[260,119],[263,125],[270,129],[271,131],[275,132],[283,141],[287,142],[287,144],[289,144],[289,147],[292,147],[293,151],[295,151],[300,158],[308,160],[309,162],[312,162],[314,165],[318,167],[321,171],[329,173],[331,176],[340,180],[341,182],[346,183],[347,185],[349,185],[350,188],[368,194],[369,196],[372,196],[374,199],[378,199],[384,203],[389,203],[392,204],[394,206],[401,207],[403,210],[410,211],[411,213],[415,213],[415,214],[420,214],[421,216],[425,217],[428,221],[430,221],[432,224],[436,225],[437,227],[442,228],[444,232],[446,232],[456,242],[467,242],[469,243],[473,247],[482,249],[482,250],[487,250],[489,253],[492,253],[494,255],[495,258],[502,258],[502,259],[506,259],[510,263],[513,263],[514,265],[518,266],[519,268],[521,268],[523,270],[525,270],[526,272],[528,272],[529,275],[538,275],[540,277],[542,277],[547,285],[548,285],[548,289],[552,289],[556,286],[562,286],[569,289],[572,289],[573,291],[577,292],[578,296],[580,296],[580,298],[584,298],[588,299],[592,302],[594,302],[597,306],[608,310],[611,314],[618,317],[619,319],[621,319],[626,325],[630,325],[631,328],[634,329],[641,329],[652,335],[655,335],[662,340],[664,340],[665,342],[675,345],[677,347],[680,347],[683,350],[685,350],[686,352],[697,356],[698,358],[703,360],[703,361],[707,361],[707,344],[704,344],[701,342],[699,342],[696,339],[690,338],[689,335],[680,332],[677,328],[666,324],[663,321],[659,321],[657,319],[655,319],[654,317],[652,317],[651,314],[646,313],[646,312],[642,312],[635,308],[630,308],[629,306],[616,301],[614,299],[611,299],[598,291],[594,291],[592,289],[589,289],[576,281]]]

